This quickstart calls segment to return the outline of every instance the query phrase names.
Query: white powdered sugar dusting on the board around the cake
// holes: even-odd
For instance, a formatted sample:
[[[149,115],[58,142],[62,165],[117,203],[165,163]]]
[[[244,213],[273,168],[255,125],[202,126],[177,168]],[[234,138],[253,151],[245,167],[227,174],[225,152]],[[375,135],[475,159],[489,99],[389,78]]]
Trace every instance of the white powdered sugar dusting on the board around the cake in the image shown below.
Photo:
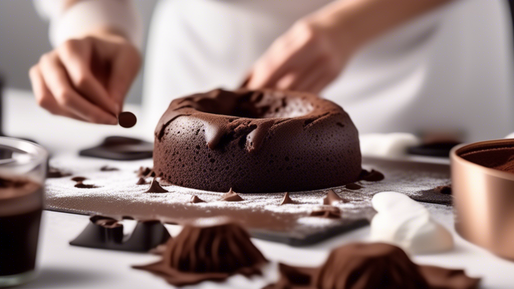
[[[269,213],[278,220],[287,219],[287,227],[291,232],[305,234],[345,225],[356,219],[371,219],[374,210],[370,202],[375,193],[397,191],[409,195],[414,200],[426,200],[427,195],[431,199],[431,189],[449,183],[447,172],[423,168],[395,169],[380,162],[365,162],[364,169],[377,169],[383,172],[386,178],[380,182],[361,181],[359,184],[363,188],[360,190],[333,188],[338,195],[350,202],[335,204],[342,212],[341,220],[326,220],[308,216],[311,211],[323,206],[322,198],[326,195],[326,189],[290,192],[291,199],[298,204],[280,205],[284,193],[240,194],[244,201],[224,202],[219,201],[223,193],[183,188],[162,182],[161,186],[170,191],[169,193],[144,193],[149,185],[136,185],[136,171],[141,166],[152,167],[151,159],[113,161],[62,154],[52,158],[50,165],[70,171],[72,176],[47,179],[45,204],[49,210],[111,216],[133,215],[168,222],[185,218],[183,215],[176,215],[177,209],[188,212],[189,217],[193,217],[190,219],[195,219],[195,216],[207,218],[219,215],[219,212],[224,210],[248,214]],[[100,171],[100,168],[106,165],[118,168],[119,171]],[[76,182],[71,180],[74,176],[84,176],[87,178],[84,184],[96,185],[98,188],[75,188]],[[151,178],[146,180],[149,182]],[[189,203],[193,195],[197,195],[206,203]]]

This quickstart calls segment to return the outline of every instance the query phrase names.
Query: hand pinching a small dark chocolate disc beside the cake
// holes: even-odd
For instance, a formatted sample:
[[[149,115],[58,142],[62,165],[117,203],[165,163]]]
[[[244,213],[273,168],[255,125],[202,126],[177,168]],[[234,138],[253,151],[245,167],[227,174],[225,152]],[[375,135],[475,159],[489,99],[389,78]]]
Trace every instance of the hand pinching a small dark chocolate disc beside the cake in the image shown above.
[[[126,39],[103,34],[68,40],[29,70],[39,105],[55,115],[117,124],[123,100],[141,65]]]

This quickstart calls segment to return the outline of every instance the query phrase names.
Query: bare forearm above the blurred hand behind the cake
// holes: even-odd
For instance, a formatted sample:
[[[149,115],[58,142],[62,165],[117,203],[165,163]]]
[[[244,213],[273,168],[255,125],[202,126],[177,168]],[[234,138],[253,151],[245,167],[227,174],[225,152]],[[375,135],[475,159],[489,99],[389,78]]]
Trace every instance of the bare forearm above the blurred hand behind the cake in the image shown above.
[[[455,0],[338,0],[308,18],[358,47],[378,35]]]

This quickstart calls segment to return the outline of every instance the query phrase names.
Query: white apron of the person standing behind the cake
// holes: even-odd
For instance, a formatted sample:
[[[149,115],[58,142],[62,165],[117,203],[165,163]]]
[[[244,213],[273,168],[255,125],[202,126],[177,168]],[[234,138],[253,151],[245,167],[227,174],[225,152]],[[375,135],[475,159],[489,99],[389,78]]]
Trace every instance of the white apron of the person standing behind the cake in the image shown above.
[[[161,0],[144,69],[148,132],[170,101],[236,88],[269,45],[327,0]],[[514,131],[510,16],[503,0],[461,0],[363,47],[321,95],[362,133]]]

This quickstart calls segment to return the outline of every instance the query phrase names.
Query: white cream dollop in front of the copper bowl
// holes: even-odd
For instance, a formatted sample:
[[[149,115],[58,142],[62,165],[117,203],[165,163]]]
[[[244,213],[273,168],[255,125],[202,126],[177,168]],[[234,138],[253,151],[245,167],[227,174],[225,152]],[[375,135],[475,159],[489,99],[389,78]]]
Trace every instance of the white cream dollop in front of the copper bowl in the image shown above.
[[[380,192],[373,196],[372,205],[378,213],[371,222],[371,241],[392,243],[410,254],[453,248],[452,234],[410,197],[398,192]]]

